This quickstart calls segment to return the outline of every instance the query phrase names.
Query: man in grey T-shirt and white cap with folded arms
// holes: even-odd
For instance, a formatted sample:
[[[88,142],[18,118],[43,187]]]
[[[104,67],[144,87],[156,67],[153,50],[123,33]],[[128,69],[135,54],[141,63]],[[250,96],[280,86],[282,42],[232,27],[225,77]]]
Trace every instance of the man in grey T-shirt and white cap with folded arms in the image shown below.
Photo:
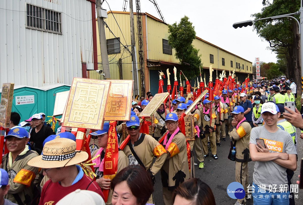
[[[251,129],[249,142],[251,160],[256,162],[252,184],[255,187],[254,203],[288,205],[288,197],[283,198],[281,195],[290,194],[286,169],[293,171],[297,169],[297,151],[291,135],[277,127],[280,117],[278,106],[273,102],[266,102],[262,106],[261,114],[265,125]],[[265,148],[256,143],[257,138],[264,139]],[[278,191],[281,184],[286,187],[286,193]],[[266,193],[259,192],[258,185],[264,185]],[[274,197],[261,198],[261,194]]]

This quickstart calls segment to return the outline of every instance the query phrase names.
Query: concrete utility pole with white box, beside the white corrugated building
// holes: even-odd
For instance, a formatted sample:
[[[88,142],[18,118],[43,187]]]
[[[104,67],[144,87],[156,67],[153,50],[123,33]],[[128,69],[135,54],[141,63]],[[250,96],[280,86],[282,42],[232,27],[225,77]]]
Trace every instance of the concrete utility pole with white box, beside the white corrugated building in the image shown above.
[[[104,2],[104,0],[102,1],[102,3],[103,2]],[[104,29],[104,24],[103,24],[104,18],[107,18],[107,12],[105,9],[102,8],[102,3],[101,3],[101,0],[96,0],[101,59],[102,59],[103,72],[105,74],[104,79],[111,79],[111,74],[109,72],[109,65],[108,65],[105,29]]]

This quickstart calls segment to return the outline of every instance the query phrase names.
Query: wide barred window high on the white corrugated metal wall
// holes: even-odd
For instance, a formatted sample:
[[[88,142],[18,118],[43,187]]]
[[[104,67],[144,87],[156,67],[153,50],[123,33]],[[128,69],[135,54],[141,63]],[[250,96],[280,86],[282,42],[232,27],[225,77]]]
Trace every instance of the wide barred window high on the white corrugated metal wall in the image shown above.
[[[29,29],[62,33],[61,13],[26,4],[26,27]]]

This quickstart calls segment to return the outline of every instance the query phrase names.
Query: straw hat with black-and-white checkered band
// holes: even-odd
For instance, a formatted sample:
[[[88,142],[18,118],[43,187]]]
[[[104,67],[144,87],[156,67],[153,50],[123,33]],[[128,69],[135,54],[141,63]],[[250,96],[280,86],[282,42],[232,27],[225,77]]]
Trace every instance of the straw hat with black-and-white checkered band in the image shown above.
[[[33,157],[28,165],[48,169],[78,164],[87,158],[88,153],[76,152],[75,141],[58,138],[45,143],[42,155]]]

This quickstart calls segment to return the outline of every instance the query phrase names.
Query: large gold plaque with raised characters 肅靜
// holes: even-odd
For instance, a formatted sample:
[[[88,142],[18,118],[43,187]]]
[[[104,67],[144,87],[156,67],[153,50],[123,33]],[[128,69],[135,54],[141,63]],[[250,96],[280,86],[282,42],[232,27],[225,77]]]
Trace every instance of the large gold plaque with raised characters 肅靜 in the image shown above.
[[[74,78],[62,126],[102,129],[111,82]]]

